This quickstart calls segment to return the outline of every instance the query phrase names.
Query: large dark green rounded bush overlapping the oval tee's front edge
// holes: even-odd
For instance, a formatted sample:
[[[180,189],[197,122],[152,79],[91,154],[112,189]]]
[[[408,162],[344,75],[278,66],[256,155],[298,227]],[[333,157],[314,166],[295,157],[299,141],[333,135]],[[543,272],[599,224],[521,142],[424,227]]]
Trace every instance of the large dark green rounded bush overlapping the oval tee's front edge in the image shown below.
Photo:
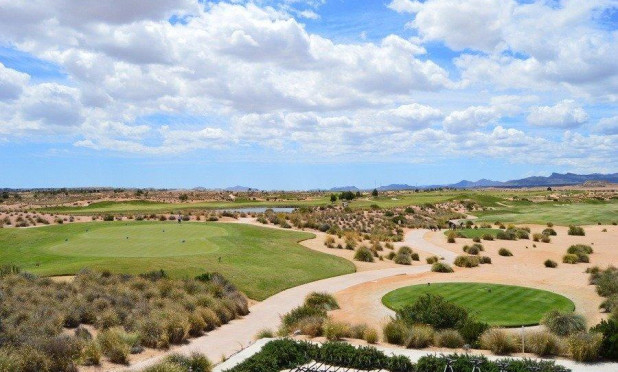
[[[468,318],[468,312],[441,296],[425,294],[412,305],[397,310],[397,318],[409,325],[427,324],[441,330],[455,328]]]

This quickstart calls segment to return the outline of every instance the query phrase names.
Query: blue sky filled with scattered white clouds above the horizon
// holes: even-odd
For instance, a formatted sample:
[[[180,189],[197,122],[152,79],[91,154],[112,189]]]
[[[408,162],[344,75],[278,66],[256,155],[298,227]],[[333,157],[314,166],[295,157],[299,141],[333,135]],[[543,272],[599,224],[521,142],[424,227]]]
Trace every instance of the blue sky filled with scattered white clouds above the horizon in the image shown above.
[[[0,188],[618,171],[618,0],[0,9]]]

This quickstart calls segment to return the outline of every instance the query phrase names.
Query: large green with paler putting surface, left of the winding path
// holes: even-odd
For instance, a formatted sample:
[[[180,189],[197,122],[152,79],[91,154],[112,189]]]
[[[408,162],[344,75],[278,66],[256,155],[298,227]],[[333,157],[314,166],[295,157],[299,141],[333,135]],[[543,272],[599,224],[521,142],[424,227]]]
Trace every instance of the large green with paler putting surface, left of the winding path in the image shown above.
[[[0,265],[40,275],[81,268],[175,278],[220,272],[249,297],[354,272],[342,258],[298,244],[313,234],[226,223],[109,222],[0,229]],[[221,261],[219,262],[219,258]]]

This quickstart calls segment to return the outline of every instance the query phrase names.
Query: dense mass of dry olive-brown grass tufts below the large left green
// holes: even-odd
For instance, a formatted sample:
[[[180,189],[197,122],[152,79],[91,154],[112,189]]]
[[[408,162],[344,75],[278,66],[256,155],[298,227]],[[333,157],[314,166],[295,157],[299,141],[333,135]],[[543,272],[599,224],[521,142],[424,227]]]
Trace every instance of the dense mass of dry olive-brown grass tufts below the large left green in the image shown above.
[[[54,282],[0,270],[0,371],[76,371],[105,357],[127,364],[248,314],[246,297],[219,274],[169,279],[81,271]]]

